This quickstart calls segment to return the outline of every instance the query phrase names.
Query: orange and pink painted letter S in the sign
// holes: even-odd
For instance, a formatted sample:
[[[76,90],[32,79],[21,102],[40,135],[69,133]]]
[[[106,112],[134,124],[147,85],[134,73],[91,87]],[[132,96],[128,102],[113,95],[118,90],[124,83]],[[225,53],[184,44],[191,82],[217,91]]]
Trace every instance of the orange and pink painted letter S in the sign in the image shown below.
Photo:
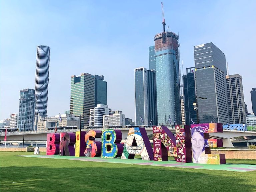
[[[101,137],[101,131],[90,130],[84,137],[86,148],[84,156],[86,157],[100,157],[101,156],[101,142],[96,141],[95,138]]]

